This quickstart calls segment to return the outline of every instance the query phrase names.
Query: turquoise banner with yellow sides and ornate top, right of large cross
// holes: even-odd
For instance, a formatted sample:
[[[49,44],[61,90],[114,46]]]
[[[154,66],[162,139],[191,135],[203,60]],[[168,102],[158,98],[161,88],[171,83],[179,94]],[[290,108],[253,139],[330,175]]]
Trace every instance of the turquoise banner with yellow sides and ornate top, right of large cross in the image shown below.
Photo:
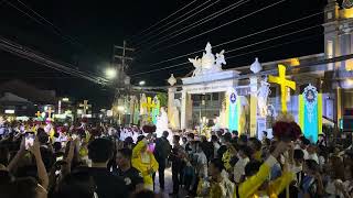
[[[318,141],[322,132],[322,95],[312,85],[299,96],[299,125],[307,139]]]

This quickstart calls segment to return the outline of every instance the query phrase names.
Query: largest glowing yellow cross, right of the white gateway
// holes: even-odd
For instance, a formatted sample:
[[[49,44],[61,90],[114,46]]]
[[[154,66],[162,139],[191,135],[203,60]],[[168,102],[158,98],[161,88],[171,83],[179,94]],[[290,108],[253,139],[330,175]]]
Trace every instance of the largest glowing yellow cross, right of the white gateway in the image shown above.
[[[282,112],[287,112],[287,87],[296,90],[296,82],[286,79],[286,66],[279,64],[278,65],[278,76],[269,76],[269,82],[278,84],[280,86],[280,101],[282,107]]]

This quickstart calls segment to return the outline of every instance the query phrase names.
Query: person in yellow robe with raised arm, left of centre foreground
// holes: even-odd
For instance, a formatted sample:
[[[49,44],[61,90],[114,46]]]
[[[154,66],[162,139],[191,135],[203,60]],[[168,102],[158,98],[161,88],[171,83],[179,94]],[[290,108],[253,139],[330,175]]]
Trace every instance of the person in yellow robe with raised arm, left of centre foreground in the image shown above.
[[[158,170],[158,162],[152,152],[148,150],[148,140],[142,138],[132,150],[132,166],[138,169],[143,177],[146,189],[153,190],[153,174]]]

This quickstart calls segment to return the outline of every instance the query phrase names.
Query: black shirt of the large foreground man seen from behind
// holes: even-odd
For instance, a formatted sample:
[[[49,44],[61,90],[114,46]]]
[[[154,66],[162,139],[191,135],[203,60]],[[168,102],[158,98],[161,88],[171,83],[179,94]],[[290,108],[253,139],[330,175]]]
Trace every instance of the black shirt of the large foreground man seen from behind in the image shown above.
[[[124,180],[113,175],[107,168],[90,167],[85,169],[93,176],[97,186],[99,198],[124,198],[128,197],[127,187]]]

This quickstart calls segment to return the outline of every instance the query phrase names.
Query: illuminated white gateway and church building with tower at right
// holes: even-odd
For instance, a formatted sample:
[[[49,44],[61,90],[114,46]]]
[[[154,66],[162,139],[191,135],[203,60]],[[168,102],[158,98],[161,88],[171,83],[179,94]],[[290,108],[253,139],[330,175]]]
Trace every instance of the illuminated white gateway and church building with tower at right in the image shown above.
[[[221,122],[218,123],[221,127],[258,135],[271,128],[271,121],[284,111],[284,105],[304,133],[307,116],[311,118],[314,113],[313,125],[318,127],[310,129],[315,133],[310,134],[313,141],[322,132],[323,122],[333,123],[336,128],[350,125],[353,116],[353,8],[340,10],[335,0],[329,0],[322,25],[323,53],[261,64],[255,62],[248,66],[234,66],[235,69],[229,70],[221,67],[225,63],[222,52],[214,56],[211,45],[207,45],[202,58],[190,59],[195,67],[194,74],[182,78],[182,86],[171,85],[169,88],[169,109],[173,109],[174,99],[181,103],[180,125],[175,129],[191,129],[201,121],[218,116]],[[292,87],[295,90],[284,89],[264,78],[277,75],[278,65],[285,65],[282,80],[296,82]],[[261,69],[254,70],[256,67]],[[260,96],[263,88],[266,89],[266,96]],[[314,94],[317,98],[314,102],[310,101],[310,107],[306,103],[306,90],[309,88],[310,97]],[[223,108],[223,105],[227,108]],[[313,105],[315,110],[311,112]],[[232,113],[232,118],[228,118]],[[227,114],[227,119],[222,119],[224,114]],[[342,120],[345,123],[342,124]]]

